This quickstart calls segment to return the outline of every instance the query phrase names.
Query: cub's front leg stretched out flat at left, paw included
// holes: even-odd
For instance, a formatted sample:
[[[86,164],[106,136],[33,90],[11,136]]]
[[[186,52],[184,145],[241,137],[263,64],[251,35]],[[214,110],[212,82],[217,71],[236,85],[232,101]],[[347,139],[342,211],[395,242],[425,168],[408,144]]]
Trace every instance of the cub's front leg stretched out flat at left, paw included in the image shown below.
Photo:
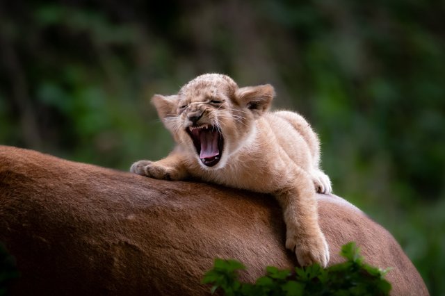
[[[160,161],[136,161],[131,165],[130,172],[154,179],[172,181],[184,180],[188,177],[188,172],[183,161],[181,161],[181,157],[174,153]]]

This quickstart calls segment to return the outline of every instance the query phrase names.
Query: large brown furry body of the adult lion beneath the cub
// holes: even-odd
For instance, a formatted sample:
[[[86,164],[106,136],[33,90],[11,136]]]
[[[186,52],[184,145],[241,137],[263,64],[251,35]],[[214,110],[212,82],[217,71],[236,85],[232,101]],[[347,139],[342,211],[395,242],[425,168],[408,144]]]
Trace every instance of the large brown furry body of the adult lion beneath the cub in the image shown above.
[[[319,222],[338,263],[357,242],[392,267],[393,295],[428,295],[396,240],[343,199],[318,195]],[[0,146],[0,241],[22,277],[12,295],[208,295],[213,258],[236,258],[253,281],[291,268],[285,226],[266,195],[169,182]]]

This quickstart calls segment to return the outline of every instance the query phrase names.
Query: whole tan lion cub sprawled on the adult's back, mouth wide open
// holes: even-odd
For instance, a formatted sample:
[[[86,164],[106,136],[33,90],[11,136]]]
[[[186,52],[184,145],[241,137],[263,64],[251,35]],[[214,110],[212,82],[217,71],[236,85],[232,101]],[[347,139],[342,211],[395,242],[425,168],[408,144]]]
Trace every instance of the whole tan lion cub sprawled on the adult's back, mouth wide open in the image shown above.
[[[300,265],[329,261],[318,225],[316,191],[330,193],[319,167],[320,147],[306,120],[268,112],[271,85],[238,88],[222,74],[204,74],[178,94],[155,94],[152,103],[177,147],[160,161],[138,161],[131,172],[156,179],[200,179],[270,193],[282,206],[286,248]]]

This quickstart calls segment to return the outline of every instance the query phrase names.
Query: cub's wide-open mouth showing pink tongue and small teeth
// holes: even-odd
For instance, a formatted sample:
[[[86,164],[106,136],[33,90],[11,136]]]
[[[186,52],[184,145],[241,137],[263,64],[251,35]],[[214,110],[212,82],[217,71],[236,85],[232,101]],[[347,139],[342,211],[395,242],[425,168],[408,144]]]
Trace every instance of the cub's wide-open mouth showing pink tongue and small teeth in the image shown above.
[[[193,140],[197,154],[204,165],[213,167],[223,155],[224,138],[215,126],[204,124],[186,129]]]

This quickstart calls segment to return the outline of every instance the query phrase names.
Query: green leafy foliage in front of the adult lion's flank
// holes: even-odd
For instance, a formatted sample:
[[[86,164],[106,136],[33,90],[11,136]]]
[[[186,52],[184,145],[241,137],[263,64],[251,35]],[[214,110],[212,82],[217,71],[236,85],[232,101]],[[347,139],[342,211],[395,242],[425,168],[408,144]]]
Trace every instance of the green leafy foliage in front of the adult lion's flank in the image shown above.
[[[238,270],[245,266],[234,260],[216,259],[202,283],[213,285],[211,293],[221,290],[227,296],[248,295],[389,295],[391,284],[384,279],[387,270],[364,263],[354,242],[343,245],[346,262],[323,269],[318,264],[295,270],[267,267],[266,275],[252,283],[238,280]]]

